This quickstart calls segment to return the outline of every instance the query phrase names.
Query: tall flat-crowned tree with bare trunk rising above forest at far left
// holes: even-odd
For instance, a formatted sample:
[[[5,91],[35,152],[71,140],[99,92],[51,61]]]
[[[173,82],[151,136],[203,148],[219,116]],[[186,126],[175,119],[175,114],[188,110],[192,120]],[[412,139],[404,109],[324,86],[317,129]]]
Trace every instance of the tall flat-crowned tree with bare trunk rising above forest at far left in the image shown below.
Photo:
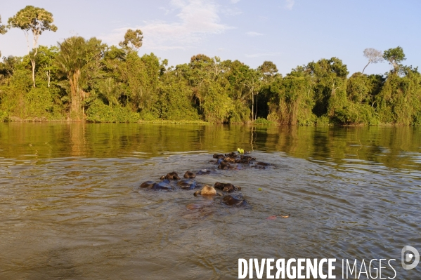
[[[32,81],[35,87],[35,66],[36,56],[38,53],[38,39],[42,32],[51,30],[57,31],[56,25],[53,25],[53,14],[46,11],[44,8],[37,8],[34,6],[26,6],[18,11],[15,16],[8,19],[8,27],[19,28],[25,33],[28,56],[32,65]],[[30,53],[30,41],[28,39],[29,33],[32,32],[33,36],[33,51]]]

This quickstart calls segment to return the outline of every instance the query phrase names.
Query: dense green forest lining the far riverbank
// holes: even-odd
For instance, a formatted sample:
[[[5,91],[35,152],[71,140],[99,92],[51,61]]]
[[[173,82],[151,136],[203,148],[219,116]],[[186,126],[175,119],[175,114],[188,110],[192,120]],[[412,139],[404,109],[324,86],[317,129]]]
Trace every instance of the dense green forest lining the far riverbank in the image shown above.
[[[421,74],[405,66],[401,47],[367,48],[385,74],[349,74],[339,58],[297,66],[286,76],[273,62],[257,69],[204,54],[176,67],[153,53],[138,55],[141,30],[127,30],[119,46],[72,36],[38,45],[55,32],[53,15],[27,6],[1,24],[32,35],[23,57],[0,62],[0,121],[208,121],[242,124],[421,124]],[[1,39],[1,38],[0,38]],[[1,56],[1,55],[0,55]]]

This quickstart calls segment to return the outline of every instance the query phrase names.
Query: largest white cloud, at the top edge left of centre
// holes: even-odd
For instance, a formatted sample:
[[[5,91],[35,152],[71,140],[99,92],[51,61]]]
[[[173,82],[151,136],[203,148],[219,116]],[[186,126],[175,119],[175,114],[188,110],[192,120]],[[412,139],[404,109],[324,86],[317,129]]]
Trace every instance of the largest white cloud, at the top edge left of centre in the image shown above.
[[[218,6],[213,1],[171,0],[170,3],[175,11],[179,11],[176,15],[178,20],[156,20],[135,27],[143,32],[143,48],[186,49],[205,39],[208,34],[221,34],[233,28],[220,22]],[[164,12],[167,13],[168,10]],[[110,34],[101,36],[101,39],[110,44],[118,44],[128,28],[130,27],[114,29]]]

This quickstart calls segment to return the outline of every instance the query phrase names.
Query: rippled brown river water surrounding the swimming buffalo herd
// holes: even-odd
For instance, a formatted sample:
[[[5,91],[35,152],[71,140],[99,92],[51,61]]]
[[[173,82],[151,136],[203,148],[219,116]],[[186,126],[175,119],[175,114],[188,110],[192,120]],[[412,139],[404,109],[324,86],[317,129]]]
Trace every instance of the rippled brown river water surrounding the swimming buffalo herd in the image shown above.
[[[210,162],[238,147],[271,166]],[[0,124],[0,279],[237,279],[238,258],[336,258],[337,279],[342,259],[395,259],[420,279],[401,267],[421,251],[420,152],[410,127]],[[202,168],[247,203],[139,188]]]

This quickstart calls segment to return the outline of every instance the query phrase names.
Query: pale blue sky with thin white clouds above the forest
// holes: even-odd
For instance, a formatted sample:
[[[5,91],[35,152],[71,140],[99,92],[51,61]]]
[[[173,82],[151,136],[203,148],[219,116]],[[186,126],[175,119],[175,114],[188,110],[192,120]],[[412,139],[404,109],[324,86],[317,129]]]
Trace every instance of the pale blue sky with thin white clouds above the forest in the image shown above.
[[[203,53],[253,68],[269,60],[285,75],[298,65],[337,57],[352,74],[367,64],[365,48],[397,46],[406,54],[405,65],[421,66],[418,0],[14,0],[1,4],[3,24],[27,5],[53,13],[58,27],[41,34],[41,45],[56,46],[75,35],[117,45],[127,29],[141,29],[139,55],[154,53],[174,66]],[[25,55],[22,30],[0,35],[0,51]],[[390,68],[383,62],[369,65],[365,73]]]

